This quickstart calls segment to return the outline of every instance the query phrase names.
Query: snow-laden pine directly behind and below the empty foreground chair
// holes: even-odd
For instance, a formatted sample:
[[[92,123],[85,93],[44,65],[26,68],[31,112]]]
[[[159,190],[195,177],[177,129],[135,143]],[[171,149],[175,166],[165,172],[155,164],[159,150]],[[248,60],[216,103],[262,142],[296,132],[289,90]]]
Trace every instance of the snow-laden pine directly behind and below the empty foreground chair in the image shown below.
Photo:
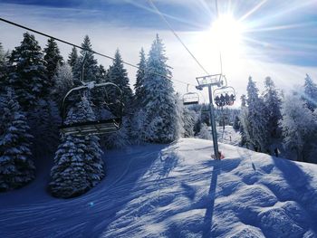
[[[94,120],[89,100],[82,98],[72,108],[66,123]],[[104,177],[99,138],[96,136],[65,136],[56,151],[51,170],[50,190],[54,196],[82,195]]]

